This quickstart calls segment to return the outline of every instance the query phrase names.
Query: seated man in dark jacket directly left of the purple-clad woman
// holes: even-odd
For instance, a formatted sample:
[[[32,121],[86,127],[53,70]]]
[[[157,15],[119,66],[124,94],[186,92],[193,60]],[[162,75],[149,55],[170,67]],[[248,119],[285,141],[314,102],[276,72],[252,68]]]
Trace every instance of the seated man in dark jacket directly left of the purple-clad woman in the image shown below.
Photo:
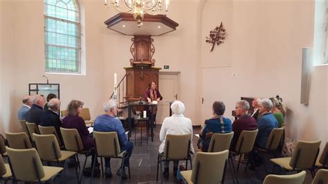
[[[48,102],[48,109],[44,111],[41,118],[40,125],[43,127],[55,127],[58,136],[61,138],[60,127],[62,127],[62,120],[60,120],[60,115],[58,111],[60,110],[60,100],[53,98]]]

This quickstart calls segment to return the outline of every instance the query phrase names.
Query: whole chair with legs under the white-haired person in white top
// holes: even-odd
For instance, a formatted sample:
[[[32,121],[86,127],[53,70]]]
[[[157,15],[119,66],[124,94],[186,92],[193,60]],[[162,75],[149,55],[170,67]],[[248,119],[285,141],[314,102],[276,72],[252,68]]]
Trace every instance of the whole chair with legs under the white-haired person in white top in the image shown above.
[[[162,163],[166,161],[185,160],[185,168],[188,168],[188,160],[192,168],[192,158],[190,156],[191,134],[170,135],[165,138],[164,153],[159,153],[157,157],[157,174],[156,181],[158,181],[158,166],[161,167],[161,183],[162,177]]]

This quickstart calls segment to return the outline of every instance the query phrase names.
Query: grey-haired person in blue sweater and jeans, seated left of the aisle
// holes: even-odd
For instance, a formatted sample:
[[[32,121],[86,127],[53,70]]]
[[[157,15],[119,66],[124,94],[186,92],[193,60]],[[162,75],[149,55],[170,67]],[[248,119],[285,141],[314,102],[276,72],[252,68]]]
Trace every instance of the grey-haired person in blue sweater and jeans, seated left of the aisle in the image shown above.
[[[129,159],[132,154],[132,149],[134,149],[134,144],[132,142],[127,141],[127,137],[125,136],[125,130],[122,126],[122,122],[116,118],[117,116],[117,103],[114,100],[109,100],[104,102],[103,105],[104,115],[100,115],[95,118],[94,122],[94,131],[115,131],[118,134],[118,140],[120,142],[120,150],[127,151],[127,155],[124,160],[124,167],[122,171],[122,178],[127,178],[127,174],[125,172],[125,167],[129,166]],[[106,177],[111,178],[111,158],[105,158],[105,171],[104,174]],[[116,174],[120,176],[120,169]]]

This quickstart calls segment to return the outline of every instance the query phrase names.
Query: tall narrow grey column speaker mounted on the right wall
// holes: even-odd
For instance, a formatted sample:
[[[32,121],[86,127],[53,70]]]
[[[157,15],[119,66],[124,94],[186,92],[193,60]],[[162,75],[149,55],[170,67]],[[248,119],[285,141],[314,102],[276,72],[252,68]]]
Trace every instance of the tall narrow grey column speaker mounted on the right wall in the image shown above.
[[[308,104],[309,102],[309,59],[310,48],[302,48],[301,104]]]

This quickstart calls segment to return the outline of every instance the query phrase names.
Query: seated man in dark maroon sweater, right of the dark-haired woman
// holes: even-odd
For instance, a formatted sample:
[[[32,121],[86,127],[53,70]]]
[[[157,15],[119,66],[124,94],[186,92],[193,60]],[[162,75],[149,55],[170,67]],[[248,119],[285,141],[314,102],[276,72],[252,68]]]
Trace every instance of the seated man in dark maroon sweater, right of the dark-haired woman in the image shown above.
[[[257,122],[255,118],[248,115],[249,103],[246,100],[240,100],[237,102],[235,111],[239,117],[233,122],[233,141],[231,142],[231,150],[235,151],[237,140],[243,130],[255,130],[257,129]]]

